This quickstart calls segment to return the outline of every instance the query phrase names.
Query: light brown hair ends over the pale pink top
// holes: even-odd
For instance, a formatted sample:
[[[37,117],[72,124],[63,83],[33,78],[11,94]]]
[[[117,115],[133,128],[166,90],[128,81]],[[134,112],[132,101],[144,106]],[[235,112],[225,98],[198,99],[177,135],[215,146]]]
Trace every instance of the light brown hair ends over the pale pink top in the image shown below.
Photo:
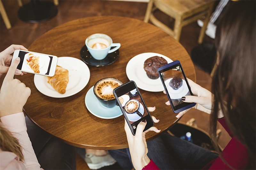
[[[13,137],[13,135],[5,128],[2,127],[0,123],[0,149],[2,151],[9,151],[15,153],[21,161],[24,157],[22,154],[22,148],[19,144],[18,139]]]

